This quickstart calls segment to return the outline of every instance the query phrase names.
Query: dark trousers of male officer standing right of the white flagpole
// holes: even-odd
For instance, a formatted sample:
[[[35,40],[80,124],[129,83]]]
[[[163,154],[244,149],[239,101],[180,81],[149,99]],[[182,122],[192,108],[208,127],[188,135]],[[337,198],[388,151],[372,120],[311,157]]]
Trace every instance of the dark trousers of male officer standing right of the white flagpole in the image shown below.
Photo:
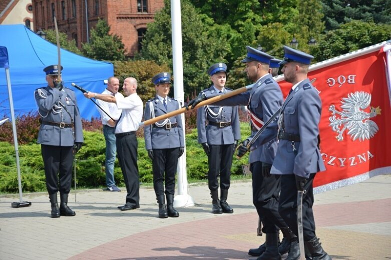
[[[220,174],[220,188],[228,189],[231,182],[232,156],[234,153],[234,144],[209,144],[209,171],[208,185],[211,191],[218,190],[219,183],[217,176]]]

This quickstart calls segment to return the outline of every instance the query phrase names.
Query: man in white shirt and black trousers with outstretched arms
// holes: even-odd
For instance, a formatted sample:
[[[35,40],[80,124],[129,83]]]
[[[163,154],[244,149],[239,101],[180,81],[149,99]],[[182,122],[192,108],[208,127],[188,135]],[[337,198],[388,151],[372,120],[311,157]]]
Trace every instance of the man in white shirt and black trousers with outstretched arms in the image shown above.
[[[121,210],[136,209],[140,207],[139,194],[139,169],[137,166],[137,138],[136,131],[143,117],[143,101],[137,95],[137,80],[128,77],[123,85],[126,97],[98,94],[94,92],[84,93],[88,98],[95,97],[106,102],[116,103],[122,109],[120,118],[115,128],[118,161],[126,185],[126,203],[118,208]]]

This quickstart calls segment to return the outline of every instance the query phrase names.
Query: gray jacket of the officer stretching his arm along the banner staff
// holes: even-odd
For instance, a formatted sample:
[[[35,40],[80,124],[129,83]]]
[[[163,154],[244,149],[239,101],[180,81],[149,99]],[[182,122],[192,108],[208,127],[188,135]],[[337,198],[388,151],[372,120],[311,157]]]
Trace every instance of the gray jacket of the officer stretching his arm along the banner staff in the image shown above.
[[[283,97],[280,86],[271,74],[267,74],[258,79],[251,90],[213,104],[249,105],[251,112],[263,122],[266,122],[281,107],[282,102]],[[252,131],[248,139],[251,140],[255,133],[256,131]],[[269,138],[264,145],[254,147],[250,152],[249,162],[262,161],[272,164],[277,151],[277,139],[275,137],[276,134],[274,138]]]

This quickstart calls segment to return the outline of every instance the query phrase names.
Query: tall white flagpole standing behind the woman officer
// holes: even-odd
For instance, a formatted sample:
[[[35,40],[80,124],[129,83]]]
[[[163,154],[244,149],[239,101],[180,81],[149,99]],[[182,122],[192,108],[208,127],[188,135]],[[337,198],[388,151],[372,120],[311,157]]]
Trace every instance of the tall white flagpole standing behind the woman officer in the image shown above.
[[[182,26],[181,26],[181,2],[171,0],[171,30],[172,30],[172,57],[174,81],[174,98],[180,104],[184,104],[183,91],[183,62],[182,62]],[[185,125],[185,116],[181,114],[182,125]],[[187,171],[186,171],[186,138],[185,128],[183,127],[183,138],[185,147],[183,155],[178,159],[178,192],[174,197],[174,206],[185,207],[194,206],[194,200],[187,192]]]

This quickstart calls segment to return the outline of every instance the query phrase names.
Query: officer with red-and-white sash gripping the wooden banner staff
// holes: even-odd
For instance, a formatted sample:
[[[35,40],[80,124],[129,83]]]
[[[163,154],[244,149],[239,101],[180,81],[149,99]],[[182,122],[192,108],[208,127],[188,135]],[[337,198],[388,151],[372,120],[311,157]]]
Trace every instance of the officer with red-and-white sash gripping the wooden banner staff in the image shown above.
[[[247,46],[247,56],[241,61],[246,63],[247,77],[255,82],[252,89],[214,103],[217,105],[247,105],[252,131],[251,135],[239,145],[239,148],[248,144],[252,136],[262,127],[263,122],[267,121],[282,104],[281,89],[269,73],[272,58],[273,56],[265,52]],[[205,96],[212,97],[211,95]],[[205,99],[205,96],[199,99]],[[189,102],[189,105],[193,100]],[[192,104],[193,107],[199,100],[195,102]],[[260,260],[281,259],[280,252],[289,251],[290,240],[295,237],[278,213],[280,178],[270,175],[276,149],[277,141],[274,138],[265,145],[252,150],[249,156],[253,181],[253,203],[263,223],[262,231],[266,233],[265,244],[250,249],[249,254],[259,256]],[[284,235],[281,244],[278,244],[279,229]]]

